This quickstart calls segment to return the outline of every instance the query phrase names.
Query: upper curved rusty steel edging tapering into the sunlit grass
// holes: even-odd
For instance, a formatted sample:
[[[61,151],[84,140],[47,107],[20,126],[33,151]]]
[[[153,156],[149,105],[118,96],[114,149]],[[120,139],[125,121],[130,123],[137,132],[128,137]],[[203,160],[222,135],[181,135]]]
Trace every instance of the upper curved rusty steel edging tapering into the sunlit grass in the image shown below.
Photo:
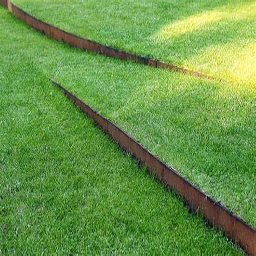
[[[61,40],[76,48],[82,48],[87,51],[100,53],[109,57],[116,57],[123,60],[132,60],[148,66],[154,66],[154,67],[163,68],[163,69],[170,69],[170,70],[185,73],[185,74],[190,74],[190,75],[194,75],[202,78],[216,80],[216,77],[201,73],[196,70],[189,70],[184,67],[176,66],[172,63],[165,63],[153,58],[142,57],[134,53],[121,51],[119,49],[115,49],[113,47],[106,46],[106,45],[97,43],[95,41],[91,41],[89,39],[79,37],[78,35],[69,33],[53,25],[50,25],[46,22],[43,22],[38,18],[35,18],[34,16],[28,14],[27,12],[17,7],[15,4],[12,3],[11,0],[0,0],[0,2],[2,2],[4,6],[8,7],[8,9],[17,18],[22,19],[24,22],[28,23],[34,29],[37,29],[51,38],[54,38],[56,40]]]

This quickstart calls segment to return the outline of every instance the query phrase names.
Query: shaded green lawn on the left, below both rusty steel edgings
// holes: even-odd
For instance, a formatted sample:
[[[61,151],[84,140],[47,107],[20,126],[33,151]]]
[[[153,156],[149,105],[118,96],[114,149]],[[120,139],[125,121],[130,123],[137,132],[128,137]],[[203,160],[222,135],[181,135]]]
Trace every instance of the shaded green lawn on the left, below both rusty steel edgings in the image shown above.
[[[2,6],[0,33],[0,254],[242,254],[48,80],[69,63],[119,62],[48,39]]]

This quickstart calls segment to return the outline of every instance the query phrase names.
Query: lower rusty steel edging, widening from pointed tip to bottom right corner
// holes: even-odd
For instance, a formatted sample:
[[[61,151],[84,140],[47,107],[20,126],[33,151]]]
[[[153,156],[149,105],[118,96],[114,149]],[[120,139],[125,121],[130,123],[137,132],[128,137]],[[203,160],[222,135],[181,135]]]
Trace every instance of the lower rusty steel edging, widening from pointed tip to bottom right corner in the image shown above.
[[[126,152],[137,158],[159,181],[176,190],[193,211],[200,212],[212,226],[223,230],[230,239],[238,243],[248,254],[256,254],[256,231],[252,227],[223,205],[204,194],[203,191],[187,181],[172,167],[167,166],[152,155],[109,119],[102,116],[59,83],[52,79],[51,81]]]

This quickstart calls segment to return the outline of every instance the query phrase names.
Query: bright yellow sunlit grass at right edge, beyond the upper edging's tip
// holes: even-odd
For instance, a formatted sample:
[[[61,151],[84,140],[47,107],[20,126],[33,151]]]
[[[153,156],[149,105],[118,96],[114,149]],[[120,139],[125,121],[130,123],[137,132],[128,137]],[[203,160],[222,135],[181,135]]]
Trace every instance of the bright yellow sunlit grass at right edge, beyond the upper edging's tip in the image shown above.
[[[226,79],[231,86],[237,87],[235,91],[255,87],[256,43],[241,40],[240,43],[209,46],[190,58],[187,66]]]

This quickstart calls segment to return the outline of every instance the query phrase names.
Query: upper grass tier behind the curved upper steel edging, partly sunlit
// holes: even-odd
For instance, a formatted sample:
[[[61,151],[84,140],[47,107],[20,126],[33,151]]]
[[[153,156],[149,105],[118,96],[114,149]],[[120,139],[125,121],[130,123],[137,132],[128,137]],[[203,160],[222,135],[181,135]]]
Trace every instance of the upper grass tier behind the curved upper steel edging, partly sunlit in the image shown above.
[[[253,0],[14,0],[67,31],[241,86],[256,83]]]

